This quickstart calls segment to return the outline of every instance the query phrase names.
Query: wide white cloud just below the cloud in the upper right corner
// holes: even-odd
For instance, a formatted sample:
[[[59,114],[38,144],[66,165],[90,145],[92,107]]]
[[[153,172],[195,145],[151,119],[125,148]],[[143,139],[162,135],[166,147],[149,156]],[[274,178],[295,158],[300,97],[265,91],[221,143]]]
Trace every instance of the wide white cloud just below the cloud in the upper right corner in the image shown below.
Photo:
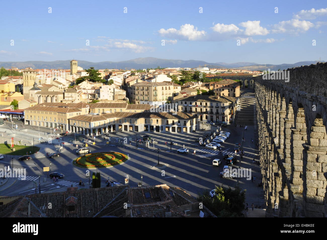
[[[272,33],[304,33],[313,26],[314,24],[309,21],[292,19],[274,24]]]

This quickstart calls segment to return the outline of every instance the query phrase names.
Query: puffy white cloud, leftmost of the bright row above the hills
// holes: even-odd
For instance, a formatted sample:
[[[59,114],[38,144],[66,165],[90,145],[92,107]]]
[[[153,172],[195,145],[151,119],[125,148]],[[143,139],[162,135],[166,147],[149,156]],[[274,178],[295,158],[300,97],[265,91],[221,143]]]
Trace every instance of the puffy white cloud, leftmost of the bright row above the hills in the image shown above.
[[[179,30],[175,28],[169,28],[167,30],[161,28],[158,32],[163,37],[177,38],[180,40],[189,41],[203,40],[206,36],[205,31],[198,31],[198,28],[191,24],[181,25]]]

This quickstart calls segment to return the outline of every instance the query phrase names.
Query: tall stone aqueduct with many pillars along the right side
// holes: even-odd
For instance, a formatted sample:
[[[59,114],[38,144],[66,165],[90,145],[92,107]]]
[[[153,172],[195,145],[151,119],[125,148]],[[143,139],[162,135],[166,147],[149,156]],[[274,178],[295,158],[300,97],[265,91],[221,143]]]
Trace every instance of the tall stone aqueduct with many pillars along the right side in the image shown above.
[[[327,217],[327,63],[255,77],[266,217]]]

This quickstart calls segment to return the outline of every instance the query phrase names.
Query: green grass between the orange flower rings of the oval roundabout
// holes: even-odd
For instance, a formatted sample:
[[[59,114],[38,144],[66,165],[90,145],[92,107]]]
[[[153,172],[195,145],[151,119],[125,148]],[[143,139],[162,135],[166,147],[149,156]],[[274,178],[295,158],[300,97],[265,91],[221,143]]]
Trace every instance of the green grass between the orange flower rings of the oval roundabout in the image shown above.
[[[125,155],[125,154],[124,154],[125,159],[123,159],[123,157],[121,155],[119,155],[119,154],[110,153],[110,152],[106,152],[106,153],[115,156],[115,159],[112,159],[112,157],[108,156],[108,155],[102,155],[104,153],[102,153],[102,154],[101,153],[92,153],[92,154],[90,154],[90,155],[88,155],[86,157],[80,156],[80,159],[78,160],[78,162],[81,163],[81,164],[85,164],[85,165],[95,165],[95,166],[83,166],[83,165],[77,164],[76,160],[79,157],[73,161],[73,165],[76,166],[76,167],[80,167],[80,168],[95,168],[95,167],[107,168],[107,167],[112,167],[112,166],[118,165],[120,163],[123,163],[128,159],[128,156]],[[97,160],[97,159],[95,159],[96,157],[103,157],[104,159]],[[89,161],[96,161],[96,162],[88,162],[88,161],[86,161],[87,158],[89,158]],[[122,161],[119,161],[119,160],[122,160]],[[100,163],[99,161],[105,161],[105,162]],[[105,164],[108,164],[108,163],[110,163],[111,165],[105,165]]]

